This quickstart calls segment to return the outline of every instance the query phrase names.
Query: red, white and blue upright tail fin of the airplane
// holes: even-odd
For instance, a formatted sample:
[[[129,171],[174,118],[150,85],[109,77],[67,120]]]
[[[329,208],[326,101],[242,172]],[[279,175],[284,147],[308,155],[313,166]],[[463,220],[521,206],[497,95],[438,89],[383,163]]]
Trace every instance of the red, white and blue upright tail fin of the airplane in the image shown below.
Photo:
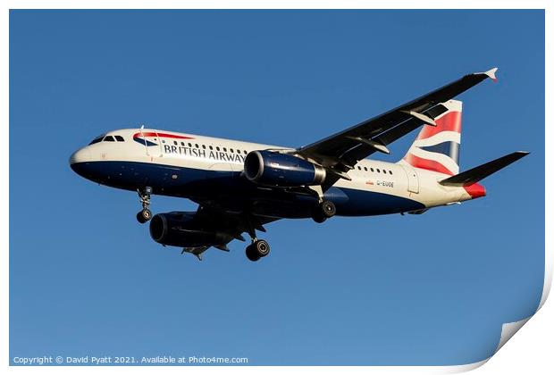
[[[416,168],[455,175],[459,171],[462,102],[449,100],[427,113],[436,126],[424,125],[403,160]]]

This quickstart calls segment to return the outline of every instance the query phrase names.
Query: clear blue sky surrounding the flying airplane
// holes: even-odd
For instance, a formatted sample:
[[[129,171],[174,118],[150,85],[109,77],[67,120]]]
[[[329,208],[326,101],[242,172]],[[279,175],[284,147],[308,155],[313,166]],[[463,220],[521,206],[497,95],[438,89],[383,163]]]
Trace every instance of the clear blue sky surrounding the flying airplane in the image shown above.
[[[69,155],[139,126],[302,146],[467,72],[460,167],[532,154],[423,215],[278,221],[272,254],[153,242],[138,197]],[[12,11],[10,356],[461,364],[534,312],[544,271],[541,11]],[[396,161],[415,134],[382,157]],[[155,212],[194,210],[155,196]]]

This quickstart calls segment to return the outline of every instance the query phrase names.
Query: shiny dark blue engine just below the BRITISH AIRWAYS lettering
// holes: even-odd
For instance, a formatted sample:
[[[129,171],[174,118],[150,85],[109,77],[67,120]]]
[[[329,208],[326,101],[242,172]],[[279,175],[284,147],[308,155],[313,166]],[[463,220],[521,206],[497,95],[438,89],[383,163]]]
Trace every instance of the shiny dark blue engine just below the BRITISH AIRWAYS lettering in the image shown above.
[[[272,151],[252,151],[244,161],[247,178],[256,184],[274,187],[321,185],[325,170],[296,156]]]

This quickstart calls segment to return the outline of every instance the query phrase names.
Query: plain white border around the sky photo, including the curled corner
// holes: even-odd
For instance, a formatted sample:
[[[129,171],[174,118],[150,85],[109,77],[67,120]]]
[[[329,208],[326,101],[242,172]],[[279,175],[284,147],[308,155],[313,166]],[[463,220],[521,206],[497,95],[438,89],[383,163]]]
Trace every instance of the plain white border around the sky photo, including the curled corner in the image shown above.
[[[170,1],[170,0],[161,0],[161,1],[148,1],[148,0],[134,0],[134,1],[125,1],[125,0],[97,0],[97,1],[81,1],[79,3],[74,1],[68,1],[68,0],[57,0],[57,1],[51,1],[48,4],[45,4],[45,2],[42,1],[5,1],[3,2],[3,12],[1,15],[2,22],[0,23],[2,25],[2,32],[0,32],[0,40],[1,40],[1,48],[3,51],[3,58],[2,61],[2,73],[0,75],[0,87],[3,87],[3,90],[0,94],[0,113],[2,113],[2,119],[4,122],[4,137],[0,139],[0,152],[2,153],[2,160],[0,161],[2,164],[2,171],[4,175],[4,179],[2,184],[0,184],[0,191],[2,192],[2,196],[4,197],[4,203],[7,203],[9,205],[9,196],[8,196],[8,187],[9,187],[9,173],[8,173],[8,165],[9,165],[9,105],[8,105],[8,98],[9,98],[9,60],[8,60],[8,54],[9,54],[9,9],[63,9],[63,8],[71,8],[71,9],[131,9],[131,8],[140,8],[140,9],[249,9],[249,8],[256,8],[256,9],[306,9],[306,8],[323,8],[323,9],[499,9],[499,5],[501,5],[501,9],[546,9],[546,46],[549,46],[546,50],[546,71],[545,71],[545,79],[546,79],[546,96],[545,101],[546,103],[552,103],[551,102],[551,87],[552,87],[552,77],[551,77],[551,66],[552,66],[552,56],[551,56],[551,49],[550,49],[550,43],[551,43],[551,36],[553,34],[552,29],[552,14],[551,10],[552,7],[550,5],[551,2],[549,1],[539,1],[539,0],[527,0],[525,2],[523,1],[515,1],[515,0],[504,0],[502,2],[498,1],[492,1],[492,0],[466,0],[466,1],[437,1],[437,0],[422,0],[422,1],[409,1],[409,0],[391,0],[387,2],[369,2],[369,1],[361,1],[361,0],[346,0],[346,1],[309,1],[309,0],[281,0],[281,1],[264,1],[264,2],[256,2],[256,1],[233,1],[232,4],[230,2],[226,2],[223,0],[209,0],[204,2],[198,2],[198,1]],[[549,6],[550,5],[550,6]],[[546,112],[546,124],[552,124],[552,115],[550,112]],[[550,151],[550,148],[548,147],[548,140],[552,139],[552,131],[550,127],[546,127],[545,129],[545,142],[547,143],[545,146],[545,153],[546,153],[546,163],[545,163],[545,188],[551,187],[552,185],[552,179],[551,179],[551,166],[552,166],[552,151]],[[545,189],[545,191],[548,191]],[[552,238],[550,235],[550,232],[548,229],[553,228],[552,227],[552,221],[551,221],[551,214],[550,214],[550,208],[552,207],[552,199],[551,196],[546,195],[545,196],[545,279],[544,279],[544,289],[541,297],[541,308],[543,304],[546,301],[547,296],[550,293],[550,286],[551,286],[551,280],[552,280]],[[1,284],[2,284],[2,299],[3,299],[3,306],[4,309],[2,310],[3,316],[2,316],[2,322],[0,323],[0,333],[2,333],[2,349],[4,353],[3,357],[3,367],[9,366],[9,351],[8,351],[8,344],[9,344],[9,335],[8,335],[8,329],[9,329],[9,317],[8,317],[8,292],[9,292],[9,253],[7,251],[9,246],[9,216],[8,215],[2,215],[0,217],[1,226],[0,232],[1,240],[2,240],[2,248],[4,249],[4,256],[3,256],[3,272],[2,272],[2,278]],[[528,364],[525,362],[525,370],[530,370],[530,368],[533,368],[535,371],[533,373],[547,373],[551,371],[552,367],[552,360],[551,354],[550,354],[550,345],[546,345],[546,343],[551,340],[551,337],[545,337],[545,333],[543,331],[543,326],[550,327],[550,333],[552,332],[552,315],[554,314],[554,310],[549,306],[549,316],[547,315],[541,315],[540,321],[541,321],[541,328],[537,328],[537,325],[539,324],[533,324],[535,319],[537,320],[537,323],[539,321],[539,318],[535,318],[532,320],[532,323],[530,325],[533,326],[534,332],[527,332],[525,335],[526,339],[528,340],[528,345],[524,347],[531,347],[532,351],[527,351],[527,359],[532,358],[533,363]],[[544,309],[543,309],[544,310]],[[530,318],[530,317],[529,317]],[[497,348],[497,351],[500,347],[502,347],[506,342],[508,341],[508,338],[513,336],[513,334],[517,331],[517,329],[520,329],[523,327],[525,322],[529,321],[529,318],[519,321],[519,322],[513,322],[513,323],[507,323],[503,326],[502,329],[502,337],[499,342],[499,346]],[[533,333],[533,334],[532,334]],[[521,334],[521,336],[524,336]],[[524,337],[521,337],[521,340],[523,341]],[[538,342],[542,342],[542,345],[540,347],[538,346]],[[511,346],[508,345],[507,349],[502,350],[504,352],[506,350],[507,355],[502,355],[501,353],[499,355],[494,355],[495,360],[491,361],[494,363],[494,367],[491,363],[490,366],[485,366],[484,368],[480,369],[481,372],[486,373],[487,371],[490,371],[490,373],[498,373],[497,371],[502,371],[502,373],[505,373],[508,371],[508,373],[514,373],[515,369],[517,367],[514,367],[514,363],[517,363],[519,365],[522,364],[520,358],[522,353],[514,353],[513,348],[519,347],[520,351],[524,351],[525,354],[525,348],[522,348],[521,345],[519,346]],[[550,349],[550,350],[549,350]],[[547,352],[548,350],[548,352]],[[512,355],[508,355],[508,351],[511,352]],[[539,355],[537,355],[539,353]],[[541,353],[541,354],[540,354]],[[499,360],[496,360],[498,357],[502,358],[502,362]],[[523,358],[525,361],[525,357]],[[484,362],[487,362],[488,360],[485,360],[483,362],[476,362],[476,363],[470,363],[467,365],[462,366],[404,366],[404,367],[390,367],[390,366],[374,366],[374,367],[349,367],[349,366],[340,366],[340,367],[315,367],[315,366],[302,366],[302,367],[264,367],[264,372],[269,373],[281,373],[282,371],[292,371],[292,372],[305,372],[305,371],[322,371],[330,373],[335,371],[340,372],[348,372],[348,373],[405,373],[405,372],[417,372],[417,373],[452,373],[452,372],[461,372],[461,371],[469,371],[472,369],[475,369],[477,367],[480,367]],[[182,373],[182,371],[185,371],[182,367],[132,367],[130,368],[123,368],[123,367],[105,367],[102,369],[102,371],[107,372],[115,372],[115,371],[123,371],[123,369],[131,370],[133,372],[138,373],[150,373],[150,372],[179,372]],[[27,373],[30,371],[44,371],[46,373],[60,373],[65,371],[73,372],[76,369],[72,367],[10,367],[9,371],[15,371],[15,372],[21,372],[21,373]],[[218,371],[224,371],[227,373],[258,373],[261,369],[259,367],[219,367]],[[521,366],[519,367],[519,370],[517,371],[523,371],[524,368]],[[97,368],[94,367],[80,367],[79,372],[89,372],[89,373],[96,373],[98,371]],[[192,373],[204,373],[206,371],[214,371],[214,367],[188,367],[188,372]],[[492,372],[495,371],[495,372]]]

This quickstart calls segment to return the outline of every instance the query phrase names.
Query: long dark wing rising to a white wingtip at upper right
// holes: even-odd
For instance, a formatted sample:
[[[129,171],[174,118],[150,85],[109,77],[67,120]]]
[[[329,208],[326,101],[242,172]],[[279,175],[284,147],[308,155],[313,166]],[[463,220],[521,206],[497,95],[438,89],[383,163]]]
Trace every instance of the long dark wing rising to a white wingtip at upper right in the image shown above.
[[[387,145],[399,137],[405,136],[424,123],[434,125],[433,118],[444,112],[441,103],[474,87],[484,79],[496,80],[496,71],[497,68],[493,68],[483,73],[468,74],[389,112],[360,122],[311,145],[300,147],[294,154],[336,172],[338,178],[347,178],[344,172],[354,168],[358,161],[374,154],[375,151],[389,154]]]

